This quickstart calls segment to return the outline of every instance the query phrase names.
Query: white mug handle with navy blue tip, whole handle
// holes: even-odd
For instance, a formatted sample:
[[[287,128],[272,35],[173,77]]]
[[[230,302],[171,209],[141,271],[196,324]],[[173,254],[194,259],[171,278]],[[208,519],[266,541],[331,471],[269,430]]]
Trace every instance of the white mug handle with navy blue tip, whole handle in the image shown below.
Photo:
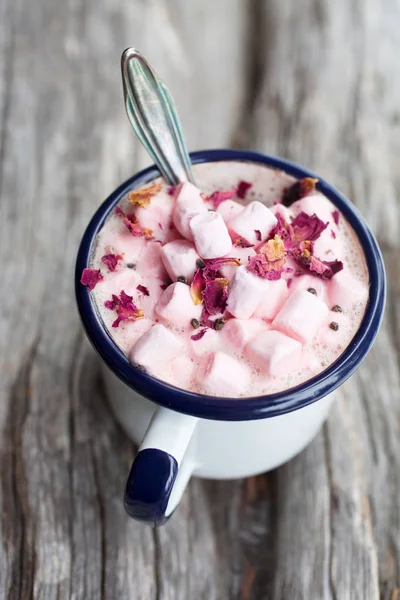
[[[133,461],[124,505],[130,517],[163,525],[177,507],[193,472],[185,456],[198,419],[160,406]]]

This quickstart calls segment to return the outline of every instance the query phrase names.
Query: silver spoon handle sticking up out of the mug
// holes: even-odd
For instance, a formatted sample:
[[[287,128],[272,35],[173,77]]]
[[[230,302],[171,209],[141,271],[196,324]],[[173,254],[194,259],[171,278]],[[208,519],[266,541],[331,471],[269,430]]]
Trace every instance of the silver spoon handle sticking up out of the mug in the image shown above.
[[[194,182],[192,166],[174,102],[135,48],[121,57],[126,112],[140,141],[171,185]]]

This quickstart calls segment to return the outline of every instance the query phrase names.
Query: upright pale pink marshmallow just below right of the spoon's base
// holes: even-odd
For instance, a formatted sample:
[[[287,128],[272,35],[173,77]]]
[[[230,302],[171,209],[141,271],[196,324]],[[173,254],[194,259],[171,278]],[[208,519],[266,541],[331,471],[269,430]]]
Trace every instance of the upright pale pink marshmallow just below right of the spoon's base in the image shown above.
[[[226,256],[232,250],[232,240],[219,213],[206,211],[190,220],[197,252],[202,258]]]

